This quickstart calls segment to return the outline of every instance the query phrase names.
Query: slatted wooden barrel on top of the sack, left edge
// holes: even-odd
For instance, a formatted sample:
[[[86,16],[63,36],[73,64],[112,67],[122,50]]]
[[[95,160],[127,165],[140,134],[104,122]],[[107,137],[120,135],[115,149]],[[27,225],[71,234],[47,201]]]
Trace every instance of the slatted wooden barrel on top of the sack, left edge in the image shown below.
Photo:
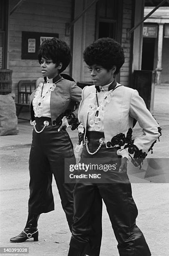
[[[12,92],[12,70],[0,69],[0,95]]]

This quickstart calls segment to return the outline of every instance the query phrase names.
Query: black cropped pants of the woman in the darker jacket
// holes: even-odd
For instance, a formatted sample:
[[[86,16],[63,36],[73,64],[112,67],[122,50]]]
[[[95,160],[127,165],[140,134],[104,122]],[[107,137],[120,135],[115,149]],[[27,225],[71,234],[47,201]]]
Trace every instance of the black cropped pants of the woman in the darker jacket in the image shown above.
[[[43,128],[45,120],[49,121],[50,125],[46,126],[42,133],[36,133],[33,130],[29,160],[30,198],[28,211],[32,214],[41,214],[54,210],[52,194],[52,175],[54,175],[62,207],[71,230],[75,184],[65,184],[64,182],[64,159],[72,158],[72,163],[75,163],[72,142],[64,129],[58,132],[58,126],[53,127],[51,125],[51,118],[36,118],[37,131]]]

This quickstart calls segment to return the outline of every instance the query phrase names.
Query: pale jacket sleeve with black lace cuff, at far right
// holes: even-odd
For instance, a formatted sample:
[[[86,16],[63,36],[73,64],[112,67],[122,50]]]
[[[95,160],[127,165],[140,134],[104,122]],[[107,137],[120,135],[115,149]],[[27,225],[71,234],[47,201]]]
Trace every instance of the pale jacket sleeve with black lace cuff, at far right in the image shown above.
[[[127,148],[129,154],[134,157],[135,164],[140,165],[147,153],[152,150],[157,138],[161,136],[161,128],[137,90],[134,90],[131,96],[129,115],[138,121],[142,133],[134,140],[130,138],[124,148]]]

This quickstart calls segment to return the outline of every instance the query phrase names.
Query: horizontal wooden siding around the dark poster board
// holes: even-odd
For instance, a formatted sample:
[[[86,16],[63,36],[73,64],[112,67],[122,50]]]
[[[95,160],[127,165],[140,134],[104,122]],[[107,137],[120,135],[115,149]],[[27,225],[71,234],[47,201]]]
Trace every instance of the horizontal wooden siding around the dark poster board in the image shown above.
[[[10,0],[10,10],[18,2]],[[65,23],[71,22],[72,0],[26,0],[10,15],[9,60],[12,69],[12,92],[17,96],[17,83],[23,79],[41,77],[37,60],[22,60],[22,31],[59,33],[59,38],[70,46],[65,36]],[[69,67],[65,70],[69,74]]]

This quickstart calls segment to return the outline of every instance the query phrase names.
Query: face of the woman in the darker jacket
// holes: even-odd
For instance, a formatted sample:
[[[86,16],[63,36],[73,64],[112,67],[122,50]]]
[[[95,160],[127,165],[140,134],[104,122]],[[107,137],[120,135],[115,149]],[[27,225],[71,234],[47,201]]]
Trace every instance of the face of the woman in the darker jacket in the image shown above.
[[[45,59],[42,57],[40,61],[40,67],[43,77],[54,78],[59,74],[59,69],[61,69],[62,64],[60,63],[55,67],[55,63],[51,59]]]

